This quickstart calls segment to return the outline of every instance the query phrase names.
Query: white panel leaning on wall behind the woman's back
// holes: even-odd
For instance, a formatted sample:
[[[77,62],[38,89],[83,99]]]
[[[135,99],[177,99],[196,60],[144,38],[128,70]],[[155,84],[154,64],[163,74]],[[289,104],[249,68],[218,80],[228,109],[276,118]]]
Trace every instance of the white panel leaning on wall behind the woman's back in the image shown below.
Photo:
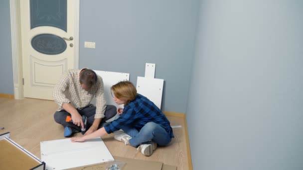
[[[138,77],[137,92],[149,98],[161,109],[163,83],[163,79]]]

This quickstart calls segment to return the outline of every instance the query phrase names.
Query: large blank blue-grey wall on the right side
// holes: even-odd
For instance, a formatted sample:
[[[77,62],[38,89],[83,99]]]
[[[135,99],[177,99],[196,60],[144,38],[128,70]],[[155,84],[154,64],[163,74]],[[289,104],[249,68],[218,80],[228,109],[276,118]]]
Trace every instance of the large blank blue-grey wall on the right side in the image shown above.
[[[303,1],[201,0],[194,170],[303,170]]]

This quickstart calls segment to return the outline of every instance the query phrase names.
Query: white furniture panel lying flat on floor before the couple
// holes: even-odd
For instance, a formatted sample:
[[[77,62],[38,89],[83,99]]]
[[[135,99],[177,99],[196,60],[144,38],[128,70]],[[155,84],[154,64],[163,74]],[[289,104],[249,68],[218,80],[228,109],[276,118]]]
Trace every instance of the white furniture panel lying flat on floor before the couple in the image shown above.
[[[86,142],[71,142],[70,139],[43,141],[40,147],[46,170],[64,170],[114,160],[100,137]]]

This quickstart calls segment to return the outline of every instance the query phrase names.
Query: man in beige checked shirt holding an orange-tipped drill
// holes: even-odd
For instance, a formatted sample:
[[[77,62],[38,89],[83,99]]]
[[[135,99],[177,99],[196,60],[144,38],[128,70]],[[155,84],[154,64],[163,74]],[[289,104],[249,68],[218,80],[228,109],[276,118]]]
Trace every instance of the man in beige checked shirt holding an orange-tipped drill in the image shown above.
[[[106,105],[103,88],[102,78],[87,68],[69,70],[62,75],[61,80],[53,89],[53,98],[59,105],[54,119],[65,127],[64,137],[84,129],[83,117],[85,116],[88,130],[84,135],[88,135],[116,115],[116,106]],[[94,96],[96,106],[90,103]]]

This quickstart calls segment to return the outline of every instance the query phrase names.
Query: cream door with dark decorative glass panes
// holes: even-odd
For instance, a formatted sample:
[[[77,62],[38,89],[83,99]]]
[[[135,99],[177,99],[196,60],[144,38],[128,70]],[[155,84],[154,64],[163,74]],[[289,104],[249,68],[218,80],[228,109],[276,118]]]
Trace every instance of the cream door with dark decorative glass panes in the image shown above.
[[[52,99],[74,68],[75,0],[20,0],[24,97]]]

